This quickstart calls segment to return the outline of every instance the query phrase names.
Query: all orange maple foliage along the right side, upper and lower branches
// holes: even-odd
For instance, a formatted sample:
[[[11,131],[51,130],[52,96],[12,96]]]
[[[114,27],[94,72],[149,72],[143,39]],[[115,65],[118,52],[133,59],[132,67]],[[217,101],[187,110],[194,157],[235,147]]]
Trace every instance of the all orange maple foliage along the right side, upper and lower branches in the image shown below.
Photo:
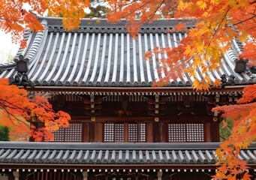
[[[194,20],[194,28],[188,29],[179,23],[176,28],[170,30],[186,32],[179,46],[163,49],[156,47],[152,52],[146,53],[146,58],[153,54],[165,54],[165,57],[161,58],[163,66],[160,69],[167,72],[167,77],[156,82],[156,86],[164,85],[170,78],[181,77],[184,69],[194,77],[193,87],[197,91],[208,91],[211,86],[221,86],[220,80],[210,80],[208,72],[221,67],[221,58],[232,46],[233,39],[246,42],[244,52],[238,55],[239,58],[249,58],[251,65],[254,65],[256,60],[254,0],[113,0],[110,5],[113,12],[108,19],[113,23],[121,18],[128,20],[131,24],[127,29],[133,36],[139,33],[143,23],[158,19],[161,15],[170,17],[167,12],[174,11],[175,17]],[[140,19],[136,20],[138,13]],[[203,79],[197,77],[197,71],[204,75]],[[224,116],[236,120],[233,122],[230,138],[216,151],[219,159],[216,165],[219,167],[214,179],[250,179],[250,175],[245,171],[246,162],[239,160],[238,154],[241,148],[247,148],[255,140],[256,103],[251,102],[255,99],[255,90],[251,86],[245,89],[247,93],[239,100],[239,103],[243,103],[241,105],[214,109],[225,111]],[[227,126],[226,121],[223,126]]]

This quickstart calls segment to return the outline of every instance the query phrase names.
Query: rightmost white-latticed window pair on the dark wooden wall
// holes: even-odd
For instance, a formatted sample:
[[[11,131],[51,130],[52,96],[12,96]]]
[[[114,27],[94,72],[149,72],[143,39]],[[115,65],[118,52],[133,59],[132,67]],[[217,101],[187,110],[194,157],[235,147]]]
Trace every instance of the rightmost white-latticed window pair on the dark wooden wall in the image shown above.
[[[203,142],[203,124],[168,124],[168,140],[169,142]]]

